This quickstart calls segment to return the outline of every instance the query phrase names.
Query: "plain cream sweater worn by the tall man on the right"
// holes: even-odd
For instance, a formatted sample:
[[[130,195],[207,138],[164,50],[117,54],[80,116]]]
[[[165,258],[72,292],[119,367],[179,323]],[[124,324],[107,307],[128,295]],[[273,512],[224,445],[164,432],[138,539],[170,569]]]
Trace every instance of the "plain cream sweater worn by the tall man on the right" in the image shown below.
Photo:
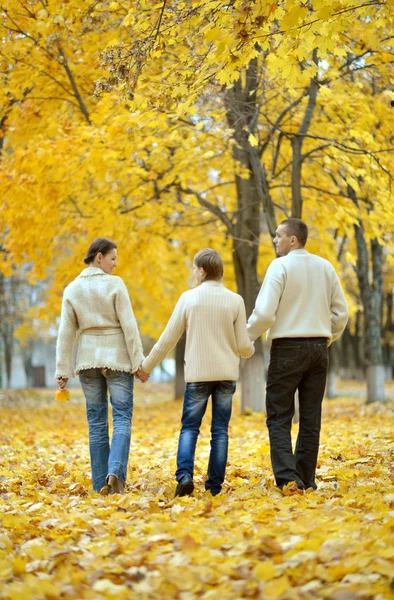
[[[292,250],[268,267],[248,321],[255,340],[326,337],[336,340],[346,327],[348,307],[334,267],[304,249]]]

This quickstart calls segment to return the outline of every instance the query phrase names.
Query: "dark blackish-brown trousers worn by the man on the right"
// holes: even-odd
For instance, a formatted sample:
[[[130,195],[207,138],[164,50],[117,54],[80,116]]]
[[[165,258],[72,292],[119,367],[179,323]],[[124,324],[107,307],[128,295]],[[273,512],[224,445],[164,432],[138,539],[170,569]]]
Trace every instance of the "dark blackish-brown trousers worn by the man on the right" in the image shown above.
[[[316,489],[321,405],[328,370],[326,338],[278,338],[272,342],[267,377],[267,426],[277,485],[290,481]],[[300,428],[291,445],[294,394],[298,389]]]

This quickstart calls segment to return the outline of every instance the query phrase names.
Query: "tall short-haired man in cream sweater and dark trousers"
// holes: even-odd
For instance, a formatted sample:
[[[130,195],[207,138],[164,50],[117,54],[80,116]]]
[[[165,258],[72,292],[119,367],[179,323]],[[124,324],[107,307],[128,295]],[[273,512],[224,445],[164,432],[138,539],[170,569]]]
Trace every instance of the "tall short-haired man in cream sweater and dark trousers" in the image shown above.
[[[272,341],[267,377],[267,426],[276,484],[283,490],[316,489],[321,405],[328,370],[328,345],[345,329],[348,308],[338,276],[323,258],[304,248],[308,228],[286,219],[276,230],[279,258],[269,266],[248,321],[255,340]],[[298,389],[300,428],[291,445],[294,394]],[[288,485],[288,484],[292,485]]]

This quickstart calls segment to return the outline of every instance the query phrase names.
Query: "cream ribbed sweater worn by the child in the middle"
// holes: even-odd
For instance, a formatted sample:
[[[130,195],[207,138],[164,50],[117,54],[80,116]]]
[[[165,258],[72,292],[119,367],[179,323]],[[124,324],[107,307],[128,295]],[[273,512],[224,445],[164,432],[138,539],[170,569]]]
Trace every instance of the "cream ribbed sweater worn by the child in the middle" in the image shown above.
[[[150,373],[186,333],[185,381],[236,381],[240,356],[254,353],[244,301],[218,281],[182,294],[159,341],[143,361]]]

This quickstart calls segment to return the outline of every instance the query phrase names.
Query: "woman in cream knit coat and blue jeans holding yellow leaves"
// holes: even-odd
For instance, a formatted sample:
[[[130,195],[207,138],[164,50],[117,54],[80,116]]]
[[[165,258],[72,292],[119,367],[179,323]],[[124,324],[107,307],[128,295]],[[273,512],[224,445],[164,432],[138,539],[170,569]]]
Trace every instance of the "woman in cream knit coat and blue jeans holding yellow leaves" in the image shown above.
[[[86,398],[93,489],[123,493],[129,457],[134,377],[144,358],[130,298],[120,277],[112,275],[117,246],[97,238],[90,246],[88,268],[64,291],[56,346],[60,389],[74,376],[73,345],[79,332],[75,373]],[[113,414],[111,446],[108,400]]]

